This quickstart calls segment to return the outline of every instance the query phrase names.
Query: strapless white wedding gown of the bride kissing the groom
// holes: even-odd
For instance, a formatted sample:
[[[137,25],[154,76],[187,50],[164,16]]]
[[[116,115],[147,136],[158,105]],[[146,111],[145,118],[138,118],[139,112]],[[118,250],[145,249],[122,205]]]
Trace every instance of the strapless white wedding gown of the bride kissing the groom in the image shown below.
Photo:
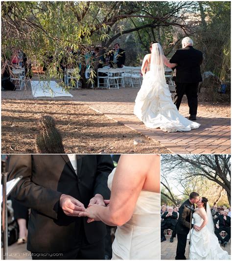
[[[197,213],[192,215],[194,225],[201,226],[203,219]],[[191,232],[191,245],[189,252],[190,260],[229,260],[231,256],[227,251],[224,251],[218,238],[214,233],[211,233],[207,226],[200,231],[192,229]]]

